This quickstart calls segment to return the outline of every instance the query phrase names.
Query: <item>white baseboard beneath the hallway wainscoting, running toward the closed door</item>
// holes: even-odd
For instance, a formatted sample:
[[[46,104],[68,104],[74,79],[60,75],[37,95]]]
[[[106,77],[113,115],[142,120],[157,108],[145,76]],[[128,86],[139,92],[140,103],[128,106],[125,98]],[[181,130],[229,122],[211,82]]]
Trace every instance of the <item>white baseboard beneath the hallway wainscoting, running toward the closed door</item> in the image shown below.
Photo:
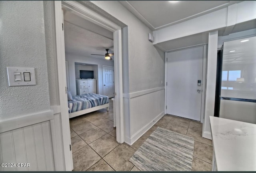
[[[160,118],[164,116],[164,111],[161,112],[159,115],[156,116],[156,118],[153,119],[153,121],[149,122],[147,125],[142,127],[137,133],[132,135],[131,138],[125,136],[125,143],[128,145],[132,145],[134,142],[136,142],[144,133],[146,133]]]

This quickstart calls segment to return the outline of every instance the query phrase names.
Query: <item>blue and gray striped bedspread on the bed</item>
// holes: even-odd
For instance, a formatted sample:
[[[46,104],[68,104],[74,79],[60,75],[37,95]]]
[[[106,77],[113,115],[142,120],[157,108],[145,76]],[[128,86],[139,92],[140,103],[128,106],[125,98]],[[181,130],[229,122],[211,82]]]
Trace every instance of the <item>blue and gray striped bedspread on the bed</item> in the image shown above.
[[[68,113],[88,109],[99,105],[104,105],[106,103],[109,103],[109,99],[108,96],[105,95],[95,93],[76,95],[73,97],[72,101],[68,101]]]

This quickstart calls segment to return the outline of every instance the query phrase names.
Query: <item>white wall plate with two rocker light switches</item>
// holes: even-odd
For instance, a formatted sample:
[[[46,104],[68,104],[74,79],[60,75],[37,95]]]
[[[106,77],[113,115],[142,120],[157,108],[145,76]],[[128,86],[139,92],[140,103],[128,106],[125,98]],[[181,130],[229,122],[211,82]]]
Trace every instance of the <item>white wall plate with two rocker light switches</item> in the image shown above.
[[[9,86],[36,85],[35,68],[7,67]]]

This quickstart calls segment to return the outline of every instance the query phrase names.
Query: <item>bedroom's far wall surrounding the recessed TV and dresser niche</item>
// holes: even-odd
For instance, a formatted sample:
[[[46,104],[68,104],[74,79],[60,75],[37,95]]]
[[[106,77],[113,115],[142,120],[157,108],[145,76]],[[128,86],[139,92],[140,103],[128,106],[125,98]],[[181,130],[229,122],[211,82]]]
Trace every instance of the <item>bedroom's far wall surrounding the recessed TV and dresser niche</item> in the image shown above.
[[[74,54],[68,54],[68,53],[66,53],[66,60],[68,61],[70,91],[73,96],[76,95],[75,62],[98,65],[98,69],[93,68],[94,71],[98,71],[98,72],[96,72],[96,74],[94,74],[94,78],[96,78],[96,80],[97,80],[97,93],[103,95],[102,65],[114,66],[114,61],[104,60],[104,59],[100,59],[100,58],[83,57],[80,55],[74,55]],[[98,73],[98,76],[97,76],[97,73]]]

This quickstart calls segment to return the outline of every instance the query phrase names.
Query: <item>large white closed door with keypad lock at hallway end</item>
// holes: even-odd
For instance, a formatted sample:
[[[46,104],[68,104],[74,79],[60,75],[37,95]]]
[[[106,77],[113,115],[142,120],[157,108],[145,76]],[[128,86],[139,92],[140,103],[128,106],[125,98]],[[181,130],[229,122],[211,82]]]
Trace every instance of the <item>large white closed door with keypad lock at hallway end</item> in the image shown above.
[[[200,121],[203,46],[169,52],[167,58],[166,113]]]

